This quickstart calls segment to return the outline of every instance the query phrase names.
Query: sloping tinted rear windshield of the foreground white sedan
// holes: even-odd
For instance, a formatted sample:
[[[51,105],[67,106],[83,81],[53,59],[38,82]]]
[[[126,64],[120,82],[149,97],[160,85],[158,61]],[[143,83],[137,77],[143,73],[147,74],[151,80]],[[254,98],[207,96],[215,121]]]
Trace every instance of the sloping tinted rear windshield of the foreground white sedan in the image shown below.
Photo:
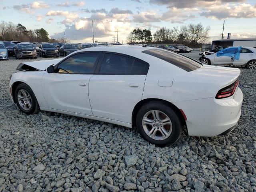
[[[194,60],[170,51],[165,51],[161,49],[148,49],[142,51],[142,53],[162,59],[188,72],[202,67],[202,65],[195,62]]]

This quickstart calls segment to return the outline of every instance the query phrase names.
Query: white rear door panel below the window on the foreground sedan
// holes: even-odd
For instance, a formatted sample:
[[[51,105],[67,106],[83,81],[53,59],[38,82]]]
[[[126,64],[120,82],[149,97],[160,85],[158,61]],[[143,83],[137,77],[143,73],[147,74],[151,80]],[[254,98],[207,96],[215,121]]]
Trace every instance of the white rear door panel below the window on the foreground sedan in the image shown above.
[[[144,75],[92,76],[89,96],[93,115],[131,123],[132,110],[142,98],[145,78]]]

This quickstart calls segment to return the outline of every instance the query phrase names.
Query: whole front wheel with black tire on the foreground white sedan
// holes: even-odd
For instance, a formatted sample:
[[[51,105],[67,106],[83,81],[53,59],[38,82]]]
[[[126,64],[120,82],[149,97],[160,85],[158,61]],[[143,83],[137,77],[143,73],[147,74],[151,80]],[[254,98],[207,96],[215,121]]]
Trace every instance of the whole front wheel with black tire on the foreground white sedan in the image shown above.
[[[18,95],[19,95],[19,99],[18,99]],[[24,99],[22,99],[22,97],[26,100],[26,104],[24,105],[24,107],[22,107],[22,104],[24,104],[25,101]],[[14,98],[18,108],[20,108],[20,110],[27,115],[35,114],[40,110],[39,104],[36,100],[36,96],[34,95],[34,92],[30,88],[30,86],[28,86],[25,83],[19,84],[17,86],[15,90]]]

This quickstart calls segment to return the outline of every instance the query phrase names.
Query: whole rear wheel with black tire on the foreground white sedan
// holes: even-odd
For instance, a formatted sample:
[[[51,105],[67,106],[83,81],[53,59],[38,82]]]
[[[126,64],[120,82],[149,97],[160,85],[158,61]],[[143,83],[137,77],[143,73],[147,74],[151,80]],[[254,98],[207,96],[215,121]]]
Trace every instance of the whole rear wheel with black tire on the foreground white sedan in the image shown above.
[[[153,112],[156,112],[155,116],[158,114],[160,122],[153,117]],[[145,118],[150,122],[143,121]],[[169,123],[164,125],[162,123],[167,123],[167,121],[162,120],[166,118],[169,118]],[[160,147],[174,144],[179,139],[182,130],[182,123],[176,112],[164,102],[159,101],[149,102],[140,108],[136,116],[136,126],[144,139]],[[168,134],[162,134],[162,130]],[[149,136],[150,132],[152,134]]]

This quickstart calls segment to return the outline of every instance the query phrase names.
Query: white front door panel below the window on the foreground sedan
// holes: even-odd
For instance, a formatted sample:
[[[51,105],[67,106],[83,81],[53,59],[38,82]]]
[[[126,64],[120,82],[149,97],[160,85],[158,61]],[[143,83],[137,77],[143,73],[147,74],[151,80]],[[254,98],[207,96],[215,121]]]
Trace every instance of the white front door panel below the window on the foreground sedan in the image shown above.
[[[92,74],[45,73],[42,91],[48,108],[92,115],[88,85]]]

